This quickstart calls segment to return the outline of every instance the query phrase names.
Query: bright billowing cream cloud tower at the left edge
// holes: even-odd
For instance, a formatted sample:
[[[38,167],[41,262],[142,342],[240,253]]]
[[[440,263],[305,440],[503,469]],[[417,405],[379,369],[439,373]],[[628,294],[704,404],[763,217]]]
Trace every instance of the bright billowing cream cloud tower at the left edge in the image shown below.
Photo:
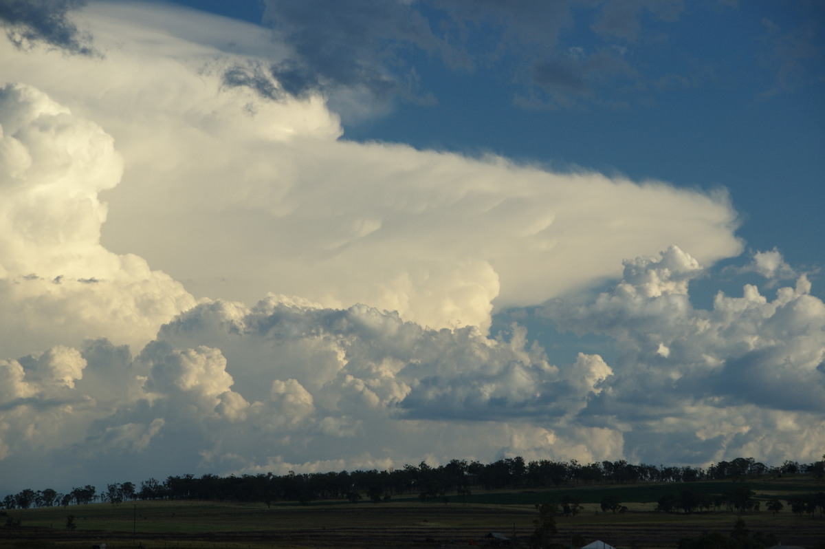
[[[143,344],[195,304],[163,272],[100,244],[123,160],[100,126],[24,84],[0,88],[0,318],[7,356],[89,336]]]

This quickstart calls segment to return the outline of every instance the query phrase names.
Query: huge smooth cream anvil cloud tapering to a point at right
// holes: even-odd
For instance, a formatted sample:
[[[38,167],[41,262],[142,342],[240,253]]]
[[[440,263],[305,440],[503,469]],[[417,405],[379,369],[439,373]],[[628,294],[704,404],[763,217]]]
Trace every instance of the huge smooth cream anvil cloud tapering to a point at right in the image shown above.
[[[251,303],[275,291],[486,329],[493,304],[536,304],[618,276],[623,258],[676,243],[713,263],[741,248],[724,193],[342,140],[318,95],[292,97],[266,74],[277,101],[226,84],[227,70],[265,62],[243,41],[224,51],[227,35],[257,27],[134,4],[82,14],[105,60],[12,52],[4,73],[114,136],[126,169],[106,192],[102,243],[198,296]],[[158,30],[188,17],[220,40]],[[91,277],[111,279],[77,276]]]

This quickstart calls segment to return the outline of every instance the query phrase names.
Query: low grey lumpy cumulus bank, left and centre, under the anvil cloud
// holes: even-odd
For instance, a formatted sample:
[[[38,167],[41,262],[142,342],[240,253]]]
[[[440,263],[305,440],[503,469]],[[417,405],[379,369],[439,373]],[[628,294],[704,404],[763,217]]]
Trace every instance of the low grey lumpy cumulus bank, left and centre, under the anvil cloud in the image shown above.
[[[78,405],[60,409],[71,435],[52,441],[38,458],[55,471],[115,456],[134,464],[135,452],[156,469],[243,472],[401,466],[456,452],[493,459],[540,452],[548,441],[560,457],[608,455],[615,444],[596,450],[587,443],[606,436],[604,430],[573,418],[602,390],[610,367],[585,355],[551,366],[525,335],[516,329],[505,342],[476,329],[426,329],[364,305],[335,310],[275,298],[252,308],[204,303],[166,324],[130,361],[112,407],[95,406],[102,391],[93,389],[105,385],[94,378],[109,373],[86,366],[120,356],[104,340],[3,362],[0,372],[15,391],[7,417],[19,414],[21,421],[8,424],[2,441],[16,444],[12,464],[42,443],[49,433],[26,436],[23,419],[42,417],[35,409],[58,413],[56,403],[39,398],[47,381],[57,381],[64,400]],[[65,381],[80,376],[78,365],[86,367],[87,386],[69,395],[73,387]],[[441,380],[437,394],[434,378]]]

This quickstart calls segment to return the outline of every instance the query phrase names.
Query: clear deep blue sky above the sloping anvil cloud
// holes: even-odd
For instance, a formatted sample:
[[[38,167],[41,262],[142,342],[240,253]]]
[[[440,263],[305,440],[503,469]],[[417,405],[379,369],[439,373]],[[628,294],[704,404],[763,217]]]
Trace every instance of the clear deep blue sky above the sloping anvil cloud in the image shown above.
[[[255,23],[263,17],[257,1],[178,3]],[[742,215],[738,234],[748,245],[780,247],[797,264],[820,263],[825,255],[823,239],[815,236],[823,229],[818,182],[825,171],[820,2],[664,2],[661,13],[650,9],[655,2],[627,2],[624,8],[561,2],[569,7],[559,10],[539,9],[542,3],[522,4],[526,21],[513,21],[507,9],[489,10],[481,22],[464,21],[461,53],[473,67],[450,67],[438,53],[376,36],[370,44],[389,49],[379,66],[399,89],[385,97],[386,110],[370,112],[366,120],[345,118],[345,139],[502,154],[691,188],[725,187]],[[346,14],[356,5],[367,28],[403,22],[380,21],[377,9],[370,14],[375,2],[335,9]],[[610,27],[603,20],[613,7],[617,13]],[[325,9],[329,6],[322,2],[305,11]],[[567,11],[568,21],[552,19]],[[439,24],[460,22],[431,2],[414,2],[409,12],[421,14],[435,35]],[[324,36],[348,38],[348,29],[330,28],[327,17],[295,24],[322,45]],[[569,60],[575,50],[589,57],[610,48],[627,63],[628,73],[571,64],[581,88],[566,88],[561,81],[542,88],[530,74],[543,59]],[[405,87],[413,71],[415,87]],[[530,97],[534,105],[520,105],[518,98]]]

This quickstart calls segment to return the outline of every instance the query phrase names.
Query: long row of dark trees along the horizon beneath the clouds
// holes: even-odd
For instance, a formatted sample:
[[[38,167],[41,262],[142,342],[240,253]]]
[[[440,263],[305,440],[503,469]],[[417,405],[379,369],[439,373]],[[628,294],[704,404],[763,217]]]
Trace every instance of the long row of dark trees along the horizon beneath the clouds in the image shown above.
[[[95,486],[73,488],[66,494],[56,490],[21,490],[6,495],[0,501],[4,509],[29,509],[54,505],[89,504],[109,502],[117,504],[134,499],[202,499],[240,502],[263,502],[271,505],[278,501],[295,501],[302,504],[315,499],[347,499],[357,502],[366,497],[374,502],[391,499],[396,495],[417,495],[422,500],[444,499],[447,494],[459,497],[471,490],[503,490],[549,488],[559,485],[586,485],[593,483],[637,482],[693,482],[698,480],[744,479],[765,474],[783,475],[813,473],[817,478],[825,476],[823,461],[799,464],[785,461],[781,466],[766,466],[753,458],[738,457],[732,461],[719,461],[706,469],[691,466],[634,465],[625,460],[600,461],[582,465],[571,461],[525,461],[521,457],[507,457],[483,464],[479,461],[452,460],[446,465],[429,466],[421,462],[417,466],[405,465],[388,471],[339,471],[325,473],[289,474],[276,476],[272,473],[242,476],[217,476],[191,474],[169,476],[161,482],[154,478],[140,482],[106,485],[97,491]],[[670,495],[658,502],[666,512],[682,510],[691,513],[697,509],[709,509],[710,505],[733,505],[740,509],[739,501],[747,507],[748,497],[731,495],[724,502],[684,490],[680,495]],[[742,499],[744,497],[744,499]],[[739,499],[736,499],[739,498]],[[750,497],[752,499],[752,497]],[[734,503],[731,503],[734,502]],[[788,502],[791,504],[791,502]],[[606,503],[603,510],[620,510],[617,502]],[[801,509],[805,508],[802,504]],[[792,509],[796,508],[791,504]],[[568,505],[570,509],[574,506]],[[820,511],[822,513],[822,511]]]

